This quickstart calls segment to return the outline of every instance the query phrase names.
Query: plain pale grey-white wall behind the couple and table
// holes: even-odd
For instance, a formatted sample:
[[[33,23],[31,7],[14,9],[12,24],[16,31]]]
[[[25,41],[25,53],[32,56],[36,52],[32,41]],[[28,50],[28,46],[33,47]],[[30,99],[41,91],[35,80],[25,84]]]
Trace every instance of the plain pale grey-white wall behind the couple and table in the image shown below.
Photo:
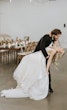
[[[24,0],[25,1],[25,0]],[[38,41],[54,28],[62,31],[61,45],[67,48],[67,0],[46,2],[42,5],[30,4],[23,0],[0,2],[0,33],[18,36],[30,36]]]

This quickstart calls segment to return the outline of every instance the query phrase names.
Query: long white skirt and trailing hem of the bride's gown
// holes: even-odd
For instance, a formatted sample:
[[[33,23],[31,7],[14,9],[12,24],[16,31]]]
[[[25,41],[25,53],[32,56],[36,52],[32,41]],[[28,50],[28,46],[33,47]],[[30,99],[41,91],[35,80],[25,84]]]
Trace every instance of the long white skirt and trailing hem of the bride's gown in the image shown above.
[[[13,74],[17,82],[14,89],[2,90],[1,97],[41,100],[47,97],[49,78],[46,71],[46,60],[41,51],[22,58]]]

